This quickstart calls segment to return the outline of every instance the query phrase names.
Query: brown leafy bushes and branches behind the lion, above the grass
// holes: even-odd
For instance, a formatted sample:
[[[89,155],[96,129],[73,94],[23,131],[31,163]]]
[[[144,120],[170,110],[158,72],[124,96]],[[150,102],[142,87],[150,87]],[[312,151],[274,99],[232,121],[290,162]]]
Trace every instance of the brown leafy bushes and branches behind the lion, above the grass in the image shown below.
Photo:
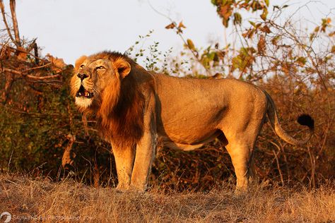
[[[250,2],[253,4],[260,1]],[[257,3],[253,5],[244,4],[244,1],[240,3],[246,10],[252,7],[259,8]],[[257,10],[264,10],[264,7]],[[278,17],[275,15],[274,18],[276,16]],[[238,20],[239,17],[230,16],[230,19]],[[300,185],[322,188],[323,183],[334,179],[335,64],[334,44],[331,44],[331,41],[334,40],[335,32],[330,19],[325,18],[321,22],[310,35],[305,33],[300,35],[294,23],[289,20],[283,24],[275,23],[273,20],[250,23],[249,29],[242,30],[245,47],[240,49],[232,49],[230,46],[220,47],[216,44],[215,48],[208,47],[201,52],[192,40],[183,39],[196,63],[201,63],[206,71],[202,72],[197,66],[182,71],[182,64],[178,61],[172,61],[178,67],[172,63],[169,67],[169,71],[173,71],[168,72],[170,74],[182,73],[185,76],[204,78],[203,73],[220,73],[223,77],[235,76],[257,83],[274,98],[283,120],[283,127],[294,130],[292,133],[299,128],[295,123],[296,116],[303,113],[312,114],[316,123],[315,135],[305,146],[287,145],[276,137],[269,126],[264,126],[257,142],[254,160],[259,182],[267,183],[268,186],[295,188]],[[184,25],[173,24],[169,28],[173,28],[178,35],[181,35]],[[66,66],[60,73],[55,71],[52,61],[39,58],[34,40],[23,44],[16,40],[18,32],[12,33],[9,28],[4,32],[8,32],[10,42],[1,43],[0,54],[1,95],[4,102],[0,109],[1,170],[30,171],[34,176],[36,172],[37,175],[44,173],[52,179],[59,179],[63,172],[57,170],[61,166],[62,152],[65,151],[64,164],[72,165],[73,169],[65,171],[63,176],[69,174],[69,177],[95,186],[99,183],[100,186],[114,186],[117,179],[110,145],[98,138],[94,120],[81,121],[81,114],[74,109],[74,103],[69,99],[67,78],[71,73],[71,67]],[[330,44],[324,44],[324,49],[318,51],[315,45],[320,38],[324,43],[328,41]],[[187,55],[184,52],[182,54]],[[190,57],[187,60],[192,63]],[[124,88],[129,85],[131,83],[124,85]],[[135,97],[139,97],[136,95],[136,92],[131,92],[129,96],[124,96],[123,100],[130,103]],[[124,108],[119,107],[119,111],[122,109]],[[119,116],[115,118],[127,120]],[[122,128],[122,124],[117,128]],[[294,136],[303,138],[304,132],[299,131]],[[151,175],[151,186],[162,191],[171,189],[210,191],[216,186],[222,186],[223,183],[227,187],[233,187],[233,181],[235,181],[233,166],[225,148],[218,141],[194,152],[160,148]],[[54,196],[57,195],[59,193],[54,193]],[[221,198],[229,200],[224,195]],[[265,197],[261,198],[265,200]],[[297,198],[310,197],[297,195]],[[173,200],[175,197],[169,199]],[[126,200],[127,198],[124,198],[122,202]],[[72,200],[73,203],[69,205],[77,201]],[[276,198],[273,201],[276,203]],[[90,202],[93,203],[92,200]],[[294,200],[288,203],[292,204],[296,204]],[[311,203],[308,204],[313,207]],[[298,205],[302,205],[302,202]],[[52,205],[49,207],[53,208]],[[60,207],[61,205],[57,206]],[[169,207],[182,208],[183,205]],[[271,205],[270,207],[276,208]],[[69,210],[74,210],[71,208],[69,206]],[[134,211],[132,207],[129,208]],[[155,210],[160,213],[164,211],[159,208]],[[296,209],[294,211],[299,212]],[[101,215],[103,214],[105,212]],[[205,214],[201,214],[203,215]],[[199,216],[200,214],[196,215]],[[278,216],[274,217],[276,219]]]

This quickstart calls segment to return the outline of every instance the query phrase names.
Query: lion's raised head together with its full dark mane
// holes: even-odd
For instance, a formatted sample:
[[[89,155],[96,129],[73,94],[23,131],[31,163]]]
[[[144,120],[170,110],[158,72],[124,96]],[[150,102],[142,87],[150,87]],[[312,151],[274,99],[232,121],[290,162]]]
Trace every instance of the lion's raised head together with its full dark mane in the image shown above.
[[[132,145],[143,134],[143,95],[137,65],[117,52],[81,56],[71,79],[80,111],[93,113],[102,135],[115,144]],[[134,71],[133,71],[134,70]]]

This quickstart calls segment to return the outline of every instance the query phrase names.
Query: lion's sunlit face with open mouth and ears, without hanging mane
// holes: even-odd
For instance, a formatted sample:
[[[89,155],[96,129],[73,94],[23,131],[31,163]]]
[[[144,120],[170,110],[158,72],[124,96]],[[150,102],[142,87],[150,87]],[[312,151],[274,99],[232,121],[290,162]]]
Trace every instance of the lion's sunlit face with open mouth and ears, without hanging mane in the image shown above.
[[[92,105],[100,107],[102,102],[112,102],[111,96],[117,100],[120,82],[130,71],[131,66],[122,54],[102,52],[81,56],[71,80],[71,92],[78,108],[84,111]]]

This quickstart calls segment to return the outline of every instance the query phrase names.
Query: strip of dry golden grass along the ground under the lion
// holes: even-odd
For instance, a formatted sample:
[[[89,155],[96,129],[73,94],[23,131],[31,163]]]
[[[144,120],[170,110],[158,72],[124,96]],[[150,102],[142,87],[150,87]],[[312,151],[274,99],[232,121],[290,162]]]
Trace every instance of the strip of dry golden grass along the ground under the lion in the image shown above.
[[[256,188],[247,195],[118,193],[73,181],[0,174],[0,212],[37,222],[334,222],[334,183],[315,191]],[[25,222],[25,220],[23,221]]]

